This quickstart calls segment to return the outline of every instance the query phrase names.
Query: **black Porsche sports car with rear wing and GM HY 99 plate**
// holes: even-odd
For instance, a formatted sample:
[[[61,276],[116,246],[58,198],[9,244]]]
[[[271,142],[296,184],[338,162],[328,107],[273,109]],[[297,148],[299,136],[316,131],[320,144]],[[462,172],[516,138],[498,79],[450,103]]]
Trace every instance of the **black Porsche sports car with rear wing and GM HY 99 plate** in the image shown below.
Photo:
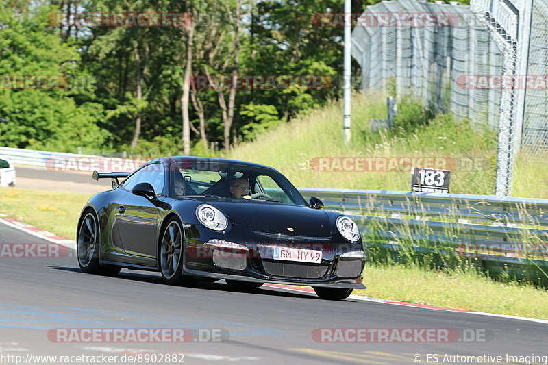
[[[201,157],[151,160],[111,178],[90,198],[77,227],[84,273],[155,270],[168,284],[216,281],[312,286],[345,299],[362,284],[365,253],[356,223],[306,201],[267,166]],[[119,179],[125,178],[121,184]]]

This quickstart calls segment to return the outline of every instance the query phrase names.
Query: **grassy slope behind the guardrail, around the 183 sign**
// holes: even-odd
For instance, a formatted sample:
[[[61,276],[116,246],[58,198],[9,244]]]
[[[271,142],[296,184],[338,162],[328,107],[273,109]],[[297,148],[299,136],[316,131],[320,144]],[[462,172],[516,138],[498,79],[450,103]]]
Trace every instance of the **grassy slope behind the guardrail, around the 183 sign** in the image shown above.
[[[475,168],[457,165],[451,173],[450,191],[460,194],[493,194],[495,188],[496,133],[475,130],[451,115],[432,119],[418,101],[399,101],[393,129],[371,132],[369,119],[386,118],[386,95],[356,94],[352,100],[352,140],[343,142],[342,102],[299,116],[242,143],[223,157],[273,166],[295,186],[306,188],[355,188],[409,190],[410,172],[314,171],[311,160],[321,157],[475,158]],[[416,167],[421,167],[416,165]],[[423,166],[424,167],[424,166]]]

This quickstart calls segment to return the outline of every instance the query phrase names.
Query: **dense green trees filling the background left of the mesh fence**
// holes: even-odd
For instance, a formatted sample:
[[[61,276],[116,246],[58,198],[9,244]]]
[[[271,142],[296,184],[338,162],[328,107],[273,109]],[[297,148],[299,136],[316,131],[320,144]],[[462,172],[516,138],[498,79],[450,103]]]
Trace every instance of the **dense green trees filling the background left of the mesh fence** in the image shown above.
[[[377,0],[353,3],[362,12]],[[0,10],[0,73],[61,75],[55,90],[0,90],[0,144],[74,151],[127,149],[141,117],[139,143],[154,147],[158,137],[182,138],[182,88],[190,32],[185,27],[66,27],[57,12],[73,12],[74,3],[58,0],[8,1]],[[227,115],[234,115],[229,140],[253,140],[263,131],[297,115],[338,100],[342,94],[343,28],[321,27],[318,14],[343,12],[336,0],[84,0],[79,11],[94,13],[173,13],[194,16],[192,75],[312,76],[321,85],[300,84],[268,90],[194,90],[203,107],[205,134],[191,133],[192,153],[210,153],[207,143],[223,146]],[[236,26],[235,15],[240,12]],[[239,62],[236,66],[236,35]],[[138,85],[141,95],[138,96]],[[410,105],[411,107],[412,105]],[[415,105],[416,106],[416,105]],[[199,110],[190,102],[192,125]],[[407,131],[427,112],[417,106],[397,123]],[[195,129],[195,130],[196,130]],[[397,129],[398,131],[400,129]],[[360,127],[364,140],[368,128]],[[163,142],[163,141],[162,141]],[[354,140],[353,143],[358,143]],[[169,149],[179,148],[168,144]],[[177,145],[178,146],[178,145]],[[133,152],[133,151],[130,151]]]

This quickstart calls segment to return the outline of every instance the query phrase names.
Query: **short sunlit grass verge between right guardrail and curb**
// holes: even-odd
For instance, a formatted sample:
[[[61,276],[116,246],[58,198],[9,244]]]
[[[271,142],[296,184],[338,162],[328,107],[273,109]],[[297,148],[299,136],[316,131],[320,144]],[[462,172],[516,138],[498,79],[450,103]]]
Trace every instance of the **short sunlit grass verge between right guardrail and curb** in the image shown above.
[[[502,284],[471,270],[442,272],[416,266],[366,266],[366,290],[354,294],[395,301],[548,319],[546,290]]]

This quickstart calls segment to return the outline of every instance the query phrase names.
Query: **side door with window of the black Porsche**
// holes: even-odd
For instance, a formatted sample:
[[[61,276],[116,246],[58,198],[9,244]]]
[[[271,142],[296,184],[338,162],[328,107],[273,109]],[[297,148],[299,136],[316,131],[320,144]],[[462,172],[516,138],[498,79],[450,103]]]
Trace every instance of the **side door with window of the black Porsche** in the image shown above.
[[[148,182],[154,188],[158,199],[165,197],[165,174],[162,164],[144,166],[130,176],[121,188],[127,190],[117,203],[114,231],[119,234],[123,250],[130,255],[155,258],[160,229],[160,208],[149,199],[132,194],[136,184]]]

